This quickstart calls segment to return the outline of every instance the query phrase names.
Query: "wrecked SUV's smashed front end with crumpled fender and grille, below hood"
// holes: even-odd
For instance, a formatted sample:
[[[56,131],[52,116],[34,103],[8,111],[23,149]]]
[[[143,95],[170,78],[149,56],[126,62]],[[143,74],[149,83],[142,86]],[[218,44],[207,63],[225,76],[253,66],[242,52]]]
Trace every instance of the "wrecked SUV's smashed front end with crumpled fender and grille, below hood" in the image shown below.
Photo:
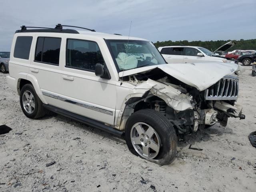
[[[130,75],[127,82],[136,85],[134,90],[148,91],[135,100],[126,99],[119,123],[121,129],[130,114],[142,108],[151,108],[166,116],[178,134],[196,132],[216,122],[226,126],[229,117],[245,118],[242,106],[235,104],[239,89],[239,79],[235,75],[224,76],[204,90],[181,82],[158,68]]]

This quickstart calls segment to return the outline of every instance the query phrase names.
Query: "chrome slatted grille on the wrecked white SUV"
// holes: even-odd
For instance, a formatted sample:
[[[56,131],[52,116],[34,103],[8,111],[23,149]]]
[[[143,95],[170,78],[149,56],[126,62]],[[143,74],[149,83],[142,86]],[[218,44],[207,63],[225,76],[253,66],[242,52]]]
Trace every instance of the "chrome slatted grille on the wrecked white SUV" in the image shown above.
[[[206,100],[237,100],[239,80],[234,76],[225,76],[205,90]]]

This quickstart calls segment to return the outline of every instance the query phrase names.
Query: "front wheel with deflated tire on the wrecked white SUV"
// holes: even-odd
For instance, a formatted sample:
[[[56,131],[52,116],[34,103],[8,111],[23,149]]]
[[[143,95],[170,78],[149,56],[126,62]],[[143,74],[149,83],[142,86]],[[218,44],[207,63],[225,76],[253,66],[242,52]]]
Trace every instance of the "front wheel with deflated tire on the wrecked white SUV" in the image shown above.
[[[178,140],[174,127],[152,109],[139,110],[128,118],[125,140],[130,152],[156,164],[169,164],[176,156]]]

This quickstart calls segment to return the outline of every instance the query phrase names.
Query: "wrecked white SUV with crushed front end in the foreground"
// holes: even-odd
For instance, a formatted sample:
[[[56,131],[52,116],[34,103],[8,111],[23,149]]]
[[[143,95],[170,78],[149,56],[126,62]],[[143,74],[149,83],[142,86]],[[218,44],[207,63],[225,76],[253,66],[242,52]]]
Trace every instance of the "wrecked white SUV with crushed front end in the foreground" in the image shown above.
[[[235,104],[236,64],[166,64],[141,38],[22,26],[9,70],[8,84],[28,118],[51,110],[124,135],[133,154],[161,165],[175,158],[184,134],[245,118]]]

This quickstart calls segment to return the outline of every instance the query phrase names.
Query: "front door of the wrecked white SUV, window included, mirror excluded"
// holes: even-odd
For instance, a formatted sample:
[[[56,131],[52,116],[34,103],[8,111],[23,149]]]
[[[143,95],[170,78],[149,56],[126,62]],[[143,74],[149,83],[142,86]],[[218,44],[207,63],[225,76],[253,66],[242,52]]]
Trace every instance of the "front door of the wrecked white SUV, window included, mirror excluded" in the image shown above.
[[[59,103],[62,108],[114,125],[116,84],[95,75],[96,63],[105,64],[98,44],[67,39],[66,62],[62,65]]]

